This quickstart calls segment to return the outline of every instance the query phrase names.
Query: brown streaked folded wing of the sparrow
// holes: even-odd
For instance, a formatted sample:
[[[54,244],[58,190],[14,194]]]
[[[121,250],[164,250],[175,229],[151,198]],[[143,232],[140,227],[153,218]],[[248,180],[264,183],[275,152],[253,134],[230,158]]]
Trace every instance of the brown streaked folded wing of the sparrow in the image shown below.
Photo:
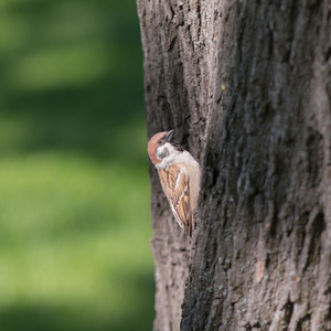
[[[190,207],[190,188],[186,173],[178,164],[160,169],[158,172],[162,189],[178,224],[191,236],[193,217]]]

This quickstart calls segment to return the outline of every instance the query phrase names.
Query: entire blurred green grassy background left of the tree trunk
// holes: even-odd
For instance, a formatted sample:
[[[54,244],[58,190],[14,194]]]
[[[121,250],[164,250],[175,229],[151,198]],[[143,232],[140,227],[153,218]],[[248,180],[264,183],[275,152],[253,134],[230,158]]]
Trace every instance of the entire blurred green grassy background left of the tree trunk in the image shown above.
[[[135,0],[1,0],[0,77],[0,330],[151,330]]]

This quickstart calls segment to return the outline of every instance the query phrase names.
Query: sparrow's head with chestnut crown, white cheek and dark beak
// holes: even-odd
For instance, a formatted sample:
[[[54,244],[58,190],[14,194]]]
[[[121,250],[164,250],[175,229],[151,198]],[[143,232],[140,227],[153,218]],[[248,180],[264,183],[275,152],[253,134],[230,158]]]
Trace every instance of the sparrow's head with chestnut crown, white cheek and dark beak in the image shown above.
[[[154,166],[161,163],[171,153],[183,151],[179,142],[172,139],[173,132],[174,130],[156,134],[148,141],[148,156]]]

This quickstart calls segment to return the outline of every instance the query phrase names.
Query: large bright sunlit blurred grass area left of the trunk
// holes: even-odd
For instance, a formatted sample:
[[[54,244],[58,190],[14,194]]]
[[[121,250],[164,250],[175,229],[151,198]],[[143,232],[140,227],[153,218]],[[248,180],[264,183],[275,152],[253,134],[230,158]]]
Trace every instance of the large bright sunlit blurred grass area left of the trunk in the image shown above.
[[[20,302],[73,317],[78,305],[92,320],[135,311],[136,281],[152,275],[146,171],[44,153],[2,160],[0,182],[0,312]]]

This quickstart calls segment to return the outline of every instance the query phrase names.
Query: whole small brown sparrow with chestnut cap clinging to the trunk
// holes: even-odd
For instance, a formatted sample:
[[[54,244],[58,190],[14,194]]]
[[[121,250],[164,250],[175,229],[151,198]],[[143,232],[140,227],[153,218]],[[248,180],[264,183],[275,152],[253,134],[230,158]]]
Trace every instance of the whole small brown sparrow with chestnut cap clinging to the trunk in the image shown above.
[[[156,134],[148,142],[148,156],[156,166],[161,186],[175,221],[192,236],[193,211],[200,192],[201,167],[174,140],[174,130]]]

